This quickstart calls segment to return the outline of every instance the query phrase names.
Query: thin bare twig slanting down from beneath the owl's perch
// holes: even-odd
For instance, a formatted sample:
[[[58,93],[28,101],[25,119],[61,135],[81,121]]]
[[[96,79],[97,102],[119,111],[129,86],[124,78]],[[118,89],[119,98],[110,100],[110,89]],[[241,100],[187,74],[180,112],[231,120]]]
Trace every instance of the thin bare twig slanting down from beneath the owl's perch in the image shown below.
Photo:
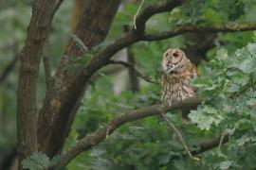
[[[163,119],[165,120],[165,122],[168,124],[168,126],[171,127],[171,128],[174,130],[174,132],[178,135],[178,138],[179,138],[181,144],[183,145],[184,149],[186,150],[188,156],[189,156],[192,160],[194,160],[194,161],[199,161],[198,158],[192,156],[192,152],[191,152],[191,150],[190,150],[188,144],[186,144],[185,140],[183,139],[181,132],[180,132],[180,131],[174,126],[174,124],[168,119],[168,117],[166,116],[165,112],[161,111],[160,114],[161,114],[161,116],[163,117]]]

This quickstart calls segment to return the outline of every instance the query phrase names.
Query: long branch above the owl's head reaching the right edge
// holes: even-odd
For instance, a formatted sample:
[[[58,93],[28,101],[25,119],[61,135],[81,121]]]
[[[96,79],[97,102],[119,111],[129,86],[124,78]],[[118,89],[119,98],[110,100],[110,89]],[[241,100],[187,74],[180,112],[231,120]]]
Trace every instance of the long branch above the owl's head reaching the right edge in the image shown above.
[[[141,36],[142,41],[159,41],[172,38],[184,33],[214,33],[214,32],[241,32],[256,30],[256,24],[235,24],[229,23],[221,26],[179,26],[173,30]]]

